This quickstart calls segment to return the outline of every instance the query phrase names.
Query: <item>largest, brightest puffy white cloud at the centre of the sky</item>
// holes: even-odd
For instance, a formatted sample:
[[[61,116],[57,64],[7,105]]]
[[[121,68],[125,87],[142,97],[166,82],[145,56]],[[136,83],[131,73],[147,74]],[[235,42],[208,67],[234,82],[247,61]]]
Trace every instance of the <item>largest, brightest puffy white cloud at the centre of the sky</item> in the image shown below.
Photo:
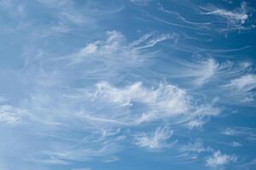
[[[135,82],[124,88],[116,88],[108,82],[99,82],[96,84],[96,93],[91,96],[98,102],[104,102],[104,105],[113,105],[115,110],[117,108],[122,110],[123,114],[112,114],[105,118],[109,120],[113,117],[112,122],[131,125],[172,117],[172,120],[168,119],[171,122],[194,120],[189,123],[190,127],[192,125],[200,127],[202,123],[195,125],[196,117],[201,117],[203,122],[204,116],[216,116],[220,112],[217,108],[212,108],[212,105],[196,105],[184,89],[172,84],[160,83],[158,88],[146,88],[142,82]],[[132,108],[136,105],[142,105],[142,107],[133,111]]]

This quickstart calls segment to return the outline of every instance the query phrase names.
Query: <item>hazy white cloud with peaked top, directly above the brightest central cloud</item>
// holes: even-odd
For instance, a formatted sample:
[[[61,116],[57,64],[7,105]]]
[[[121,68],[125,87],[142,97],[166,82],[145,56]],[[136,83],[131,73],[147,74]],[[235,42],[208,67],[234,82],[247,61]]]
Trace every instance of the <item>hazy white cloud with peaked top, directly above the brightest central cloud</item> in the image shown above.
[[[84,47],[78,49],[73,54],[62,57],[56,57],[54,61],[61,61],[62,67],[66,66],[66,70],[73,71],[78,67],[81,68],[83,77],[87,79],[105,80],[119,75],[123,72],[131,74],[131,68],[138,68],[142,65],[148,65],[150,60],[155,56],[154,51],[150,49],[143,51],[140,48],[152,48],[156,42],[152,38],[143,40],[135,40],[128,42],[125,36],[119,31],[107,31],[105,39],[88,42]],[[164,40],[157,40],[164,41]],[[86,68],[82,65],[90,65]],[[127,72],[129,71],[129,72]],[[81,75],[82,76],[82,75]]]

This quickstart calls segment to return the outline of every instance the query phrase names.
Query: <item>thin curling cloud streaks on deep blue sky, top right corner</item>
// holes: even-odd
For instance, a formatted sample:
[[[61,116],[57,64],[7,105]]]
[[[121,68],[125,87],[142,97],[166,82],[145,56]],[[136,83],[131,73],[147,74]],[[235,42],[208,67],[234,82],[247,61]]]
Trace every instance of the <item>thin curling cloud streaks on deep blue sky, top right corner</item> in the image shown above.
[[[250,23],[253,9],[249,8],[249,5],[245,2],[242,2],[240,7],[233,9],[220,8],[214,3],[201,5],[191,1],[186,3],[172,2],[172,4],[174,6],[177,5],[177,7],[183,6],[197,18],[201,18],[201,15],[204,15],[204,19],[195,20],[195,17],[190,17],[185,12],[176,8],[167,8],[161,3],[158,3],[158,9],[162,13],[168,14],[172,20],[166,20],[156,15],[151,18],[169,26],[198,31],[199,34],[200,31],[201,33],[204,32],[205,35],[208,35],[207,37],[214,37],[212,32],[228,33],[229,31],[250,30],[255,27]]]

